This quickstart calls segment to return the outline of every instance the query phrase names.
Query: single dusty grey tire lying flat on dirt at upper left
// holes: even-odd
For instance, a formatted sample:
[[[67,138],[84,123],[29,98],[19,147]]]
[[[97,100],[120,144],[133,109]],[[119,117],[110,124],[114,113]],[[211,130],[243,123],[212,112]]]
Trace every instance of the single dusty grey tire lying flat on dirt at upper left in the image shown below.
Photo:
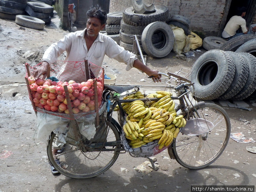
[[[45,22],[43,20],[27,15],[16,15],[15,23],[20,26],[37,30],[43,30],[45,26]]]

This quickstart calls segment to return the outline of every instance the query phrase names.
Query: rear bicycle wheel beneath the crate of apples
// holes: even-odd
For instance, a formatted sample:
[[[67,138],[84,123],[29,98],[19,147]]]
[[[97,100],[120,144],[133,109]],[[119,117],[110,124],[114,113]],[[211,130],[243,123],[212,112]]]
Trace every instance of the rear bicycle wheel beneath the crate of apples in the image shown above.
[[[93,143],[89,147],[89,144],[84,144],[89,147],[87,152],[84,152],[74,139],[66,137],[63,152],[56,155],[60,165],[57,164],[53,155],[53,150],[56,150],[56,141],[60,142],[58,138],[52,133],[47,146],[50,164],[61,174],[74,179],[91,178],[107,171],[117,160],[120,152],[120,134],[112,122],[108,126],[106,142],[103,142],[105,145]]]

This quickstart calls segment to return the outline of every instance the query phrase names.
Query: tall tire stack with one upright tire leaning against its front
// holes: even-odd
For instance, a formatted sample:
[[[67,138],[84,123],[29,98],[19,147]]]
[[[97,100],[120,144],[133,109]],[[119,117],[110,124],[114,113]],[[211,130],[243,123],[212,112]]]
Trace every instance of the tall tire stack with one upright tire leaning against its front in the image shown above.
[[[133,51],[133,36],[137,35],[143,54],[160,58],[172,51],[174,36],[166,24],[168,8],[155,5],[150,13],[135,13],[133,7],[124,9],[121,20],[120,46]]]

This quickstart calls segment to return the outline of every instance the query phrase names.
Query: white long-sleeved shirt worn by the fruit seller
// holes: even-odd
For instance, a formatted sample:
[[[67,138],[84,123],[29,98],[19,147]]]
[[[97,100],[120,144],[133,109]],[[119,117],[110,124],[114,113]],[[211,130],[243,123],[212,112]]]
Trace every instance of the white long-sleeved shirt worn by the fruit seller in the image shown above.
[[[90,65],[91,70],[95,74],[95,77],[98,77],[105,55],[109,58],[116,59],[118,62],[125,63],[127,65],[127,71],[133,67],[133,62],[137,59],[137,56],[126,51],[107,35],[99,33],[88,51],[84,39],[85,32],[86,29],[69,33],[63,39],[59,40],[59,42],[53,43],[45,51],[42,60],[48,62],[50,65],[56,62],[64,51],[67,52],[63,66],[58,66],[60,71],[56,78],[59,81],[85,81],[84,60],[88,60],[88,63],[93,63]],[[57,63],[60,62],[58,61]]]

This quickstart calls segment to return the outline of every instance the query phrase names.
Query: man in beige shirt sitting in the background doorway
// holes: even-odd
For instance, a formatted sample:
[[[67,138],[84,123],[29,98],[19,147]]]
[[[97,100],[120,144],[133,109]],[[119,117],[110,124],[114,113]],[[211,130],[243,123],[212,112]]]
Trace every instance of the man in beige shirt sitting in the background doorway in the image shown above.
[[[234,15],[230,18],[230,20],[227,22],[226,27],[224,28],[222,32],[222,37],[224,39],[232,39],[236,36],[247,34],[248,33],[248,27],[246,27],[246,21],[244,19],[244,16],[246,14],[246,8],[241,7],[238,8],[237,15]],[[241,27],[242,33],[237,33],[237,30]]]

